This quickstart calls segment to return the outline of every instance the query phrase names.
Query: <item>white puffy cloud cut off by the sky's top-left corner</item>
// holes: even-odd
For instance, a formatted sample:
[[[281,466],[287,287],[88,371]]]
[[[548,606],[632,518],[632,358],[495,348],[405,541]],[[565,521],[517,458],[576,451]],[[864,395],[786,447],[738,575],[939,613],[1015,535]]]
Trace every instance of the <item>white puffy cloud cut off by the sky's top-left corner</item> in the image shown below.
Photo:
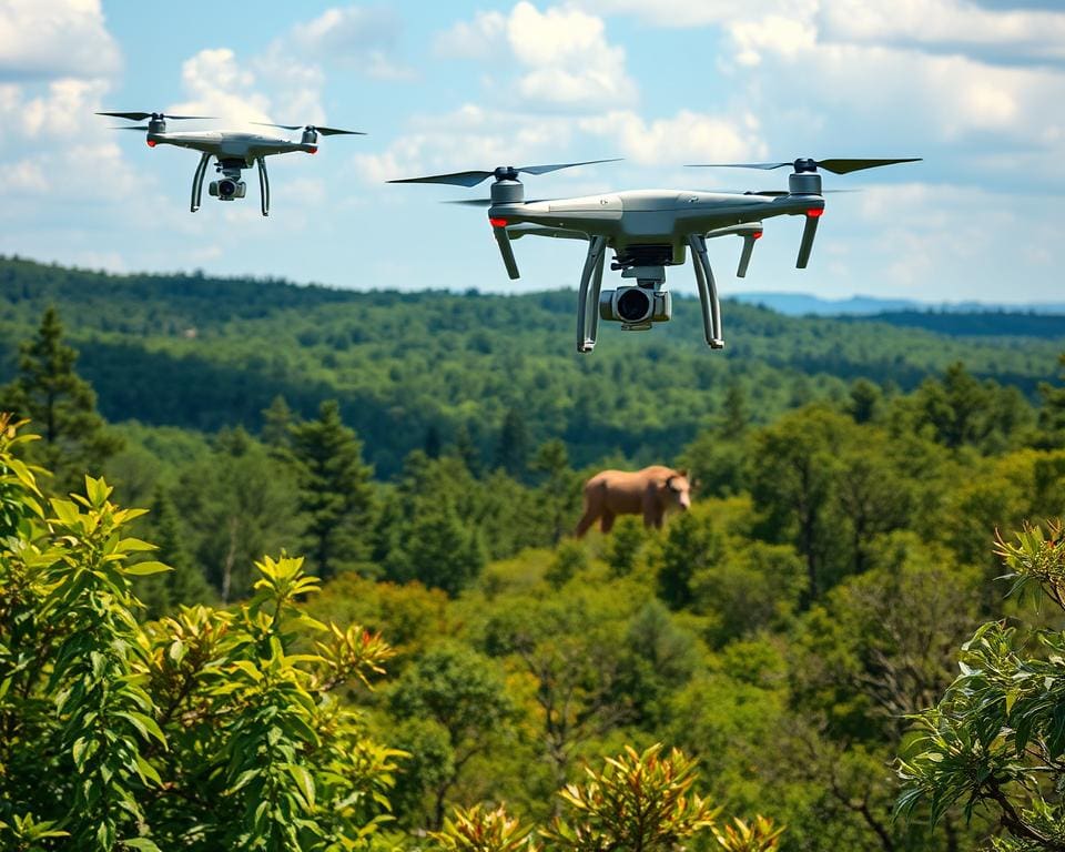
[[[99,0],[0,3],[0,79],[110,77],[120,64]]]

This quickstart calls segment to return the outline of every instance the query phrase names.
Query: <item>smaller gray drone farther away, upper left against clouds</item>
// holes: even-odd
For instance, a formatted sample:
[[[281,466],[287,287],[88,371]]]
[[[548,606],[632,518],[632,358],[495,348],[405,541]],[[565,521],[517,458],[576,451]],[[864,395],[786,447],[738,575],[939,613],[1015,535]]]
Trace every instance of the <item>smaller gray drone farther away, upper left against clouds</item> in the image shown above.
[[[303,130],[298,142],[278,136],[263,136],[257,133],[242,133],[231,130],[201,130],[182,131],[178,133],[166,131],[166,121],[209,119],[207,115],[164,115],[161,112],[98,112],[97,115],[111,115],[130,121],[144,121],[148,124],[115,128],[115,130],[146,130],[148,146],[158,144],[178,145],[200,151],[200,164],[192,178],[192,203],[190,210],[195,213],[200,210],[200,199],[203,195],[203,179],[207,173],[207,165],[213,156],[215,171],[221,180],[211,181],[207,192],[219,201],[243,199],[247,187],[241,178],[244,169],[258,166],[258,192],[262,200],[263,215],[270,215],[270,179],[266,176],[266,158],[271,154],[287,154],[292,151],[303,151],[314,154],[318,150],[318,136],[364,136],[357,130],[338,130],[336,128],[315,126],[313,124],[267,124],[256,121],[265,128],[281,128],[283,130]]]

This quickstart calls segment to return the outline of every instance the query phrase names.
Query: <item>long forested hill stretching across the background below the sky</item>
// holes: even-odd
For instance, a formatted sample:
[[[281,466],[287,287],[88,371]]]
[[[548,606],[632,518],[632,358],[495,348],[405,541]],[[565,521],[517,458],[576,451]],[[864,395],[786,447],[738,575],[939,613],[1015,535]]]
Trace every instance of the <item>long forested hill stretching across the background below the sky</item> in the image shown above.
[[[1053,317],[793,317],[727,301],[727,347],[711,352],[698,303],[678,298],[670,323],[604,324],[595,353],[578,355],[576,301],[571,291],[361,292],[0,258],[0,383],[54,304],[109,419],[257,430],[277,395],[303,416],[336,398],[390,476],[412,449],[460,430],[490,467],[508,410],[524,419],[529,452],[558,437],[578,466],[650,462],[713,423],[730,385],[755,422],[839,398],[858,377],[909,389],[957,361],[1034,395],[1065,349]]]

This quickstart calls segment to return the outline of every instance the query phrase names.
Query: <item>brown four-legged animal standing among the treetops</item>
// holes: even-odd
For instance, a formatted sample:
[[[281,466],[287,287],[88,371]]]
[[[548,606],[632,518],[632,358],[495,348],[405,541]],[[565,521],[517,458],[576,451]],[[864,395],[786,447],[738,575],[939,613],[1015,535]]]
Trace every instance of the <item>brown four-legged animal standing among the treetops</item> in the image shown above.
[[[599,518],[599,529],[609,532],[618,515],[643,515],[643,526],[662,528],[662,517],[672,507],[681,511],[691,505],[687,470],[661,465],[635,474],[604,470],[585,483],[585,516],[577,524],[577,538]]]

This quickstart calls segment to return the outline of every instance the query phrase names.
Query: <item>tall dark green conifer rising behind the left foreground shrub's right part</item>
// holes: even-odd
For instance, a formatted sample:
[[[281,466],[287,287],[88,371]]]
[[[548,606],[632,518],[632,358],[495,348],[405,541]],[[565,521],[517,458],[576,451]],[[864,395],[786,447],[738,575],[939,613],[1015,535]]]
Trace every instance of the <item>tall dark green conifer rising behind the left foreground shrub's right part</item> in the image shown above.
[[[373,493],[363,445],[344,425],[335,399],[322,403],[318,419],[292,429],[300,473],[300,508],[307,516],[308,556],[328,578],[368,556]]]

